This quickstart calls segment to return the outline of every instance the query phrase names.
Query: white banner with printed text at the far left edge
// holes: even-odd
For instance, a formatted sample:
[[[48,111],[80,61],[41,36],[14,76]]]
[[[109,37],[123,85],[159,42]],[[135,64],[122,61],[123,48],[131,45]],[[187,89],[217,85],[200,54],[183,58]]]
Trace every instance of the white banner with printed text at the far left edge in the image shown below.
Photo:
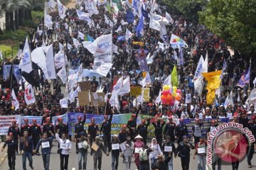
[[[21,115],[1,115],[0,116],[0,135],[7,135],[11,122],[16,120],[18,127],[21,125]]]

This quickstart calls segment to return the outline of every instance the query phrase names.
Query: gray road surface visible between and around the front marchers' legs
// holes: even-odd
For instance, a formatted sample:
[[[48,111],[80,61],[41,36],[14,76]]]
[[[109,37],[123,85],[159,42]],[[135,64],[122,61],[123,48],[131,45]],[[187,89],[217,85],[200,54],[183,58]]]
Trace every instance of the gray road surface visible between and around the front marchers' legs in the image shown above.
[[[60,169],[60,157],[56,153],[57,152],[57,143],[54,142],[55,146],[53,147],[52,154],[50,154],[50,170],[57,170]],[[192,153],[192,152],[191,152]],[[252,159],[252,166],[251,169],[256,169],[256,154],[254,155],[254,158]],[[33,166],[35,167],[35,170],[43,170],[43,160],[41,156],[33,156]],[[5,159],[4,163],[0,167],[1,170],[8,170],[8,161]],[[28,160],[27,160],[27,169],[30,169],[28,166]],[[87,170],[93,169],[93,159],[88,154],[87,157]],[[125,164],[122,163],[122,158],[119,159],[119,167],[118,169],[124,170]],[[132,159],[132,167],[131,170],[137,169],[137,167],[134,164],[134,159]],[[174,159],[174,169],[181,169],[181,160],[180,158]],[[197,169],[197,161],[193,159],[191,156],[191,162],[190,162],[190,169]],[[222,169],[224,170],[232,170],[231,165],[223,165]],[[240,163],[239,169],[245,170],[249,169],[247,168],[247,162],[246,159],[243,160]],[[22,170],[22,160],[21,155],[16,156],[16,170]],[[68,170],[78,170],[78,155],[75,154],[75,143],[73,143],[73,149],[70,153],[69,157],[69,164],[68,164]],[[105,154],[102,157],[102,170],[111,170],[111,154],[109,157],[107,157]]]

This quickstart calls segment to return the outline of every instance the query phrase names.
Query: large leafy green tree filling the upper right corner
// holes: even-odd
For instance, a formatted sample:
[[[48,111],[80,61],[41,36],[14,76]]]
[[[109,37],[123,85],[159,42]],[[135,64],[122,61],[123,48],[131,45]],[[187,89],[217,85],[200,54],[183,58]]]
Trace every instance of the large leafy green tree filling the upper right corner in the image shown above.
[[[225,42],[250,56],[256,51],[255,0],[210,0],[200,22]]]

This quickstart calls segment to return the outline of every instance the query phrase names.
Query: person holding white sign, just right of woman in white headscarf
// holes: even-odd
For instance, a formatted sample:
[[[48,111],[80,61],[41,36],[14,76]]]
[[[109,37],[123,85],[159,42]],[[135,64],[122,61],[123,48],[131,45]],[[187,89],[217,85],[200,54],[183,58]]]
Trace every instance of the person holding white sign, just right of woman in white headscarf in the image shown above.
[[[164,159],[168,159],[169,157],[169,150],[165,149],[165,147],[171,147],[171,159],[167,165],[167,170],[173,170],[174,169],[174,159],[173,159],[173,153],[176,152],[176,147],[174,145],[174,142],[171,142],[171,137],[168,135],[166,136],[166,142],[163,145],[163,154]]]

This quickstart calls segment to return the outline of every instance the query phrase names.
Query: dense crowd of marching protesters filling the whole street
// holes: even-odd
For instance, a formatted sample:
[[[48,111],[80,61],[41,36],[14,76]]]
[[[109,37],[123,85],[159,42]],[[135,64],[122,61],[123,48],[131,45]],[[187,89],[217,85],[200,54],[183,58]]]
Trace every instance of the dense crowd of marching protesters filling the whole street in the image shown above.
[[[160,4],[161,5],[161,4]],[[65,19],[58,16],[57,11],[48,11],[53,19],[53,29],[46,29],[41,24],[35,30],[28,31],[29,46],[31,51],[43,44],[53,44],[53,52],[57,54],[60,50],[65,52],[68,59],[68,67],[70,69],[78,69],[82,64],[84,69],[92,69],[94,57],[82,45],[73,44],[73,38],[77,38],[82,44],[85,38],[81,38],[79,33],[83,33],[87,39],[95,40],[101,35],[112,33],[112,42],[117,46],[117,50],[113,52],[113,65],[107,77],[85,77],[91,81],[90,91],[95,92],[99,88],[104,88],[105,94],[112,91],[114,86],[114,77],[130,77],[132,86],[139,86],[139,82],[143,79],[143,72],[139,68],[137,57],[143,57],[149,53],[153,57],[153,62],[149,64],[149,75],[151,84],[149,102],[134,103],[133,96],[122,95],[119,98],[119,108],[111,107],[107,102],[105,107],[85,106],[79,107],[78,100],[68,103],[68,108],[60,106],[60,99],[64,98],[62,91],[63,83],[58,79],[48,81],[43,79],[43,74],[37,72],[37,66],[34,65],[33,79],[42,86],[38,91],[36,103],[26,105],[23,97],[23,83],[16,81],[15,77],[10,75],[6,79],[0,79],[0,115],[41,115],[43,116],[41,125],[33,120],[32,125],[28,125],[28,120],[24,120],[24,125],[19,129],[16,122],[13,122],[9,128],[8,137],[4,147],[8,146],[9,168],[15,169],[15,155],[19,151],[22,152],[23,170],[26,170],[26,158],[28,158],[29,166],[33,169],[33,154],[38,154],[41,147],[44,169],[49,169],[50,151],[53,139],[58,140],[58,153],[60,154],[60,169],[68,169],[69,150],[76,149],[78,154],[79,169],[87,167],[87,153],[93,155],[94,169],[102,169],[102,152],[109,156],[111,152],[112,169],[118,168],[119,157],[123,157],[126,169],[130,169],[132,157],[138,169],[173,169],[174,157],[181,158],[181,166],[183,170],[189,169],[190,154],[194,158],[198,157],[198,169],[206,168],[206,137],[203,137],[201,127],[205,118],[229,118],[235,122],[241,123],[244,127],[249,128],[256,137],[255,124],[255,105],[246,103],[250,95],[250,85],[246,84],[243,88],[236,86],[241,75],[249,67],[248,59],[242,57],[239,52],[235,51],[234,55],[230,55],[225,42],[200,24],[189,23],[183,18],[169,11],[165,6],[154,8],[152,4],[146,4],[146,11],[149,12],[154,8],[154,12],[166,16],[166,12],[172,14],[172,20],[166,25],[167,37],[171,38],[171,34],[178,35],[186,41],[188,46],[181,48],[183,51],[183,63],[177,62],[176,55],[180,55],[178,48],[164,44],[157,30],[149,28],[149,20],[144,21],[144,34],[137,34],[137,23],[139,18],[135,17],[134,23],[127,23],[127,11],[132,9],[127,4],[122,4],[117,15],[112,15],[105,8],[105,5],[98,5],[98,14],[91,16],[93,24],[89,26],[87,21],[78,19],[75,8],[68,8]],[[85,6],[82,6],[86,8]],[[86,11],[86,10],[85,10]],[[149,14],[148,14],[149,15]],[[109,23],[105,21],[105,16],[109,18]],[[113,26],[110,25],[113,23]],[[121,28],[121,29],[120,29]],[[126,40],[124,37],[126,31],[132,32],[131,37]],[[43,30],[41,33],[38,30]],[[135,43],[134,43],[135,42]],[[24,43],[20,45],[23,49]],[[221,93],[216,98],[216,102],[212,106],[206,103],[206,88],[202,94],[198,94],[194,87],[193,77],[196,71],[196,64],[201,56],[206,58],[208,54],[208,72],[220,70],[223,68],[223,62],[227,63],[226,69],[223,71],[221,81]],[[180,57],[180,56],[179,56]],[[16,57],[12,62],[4,60],[1,64],[18,64]],[[182,97],[176,107],[166,106],[155,103],[159,91],[162,89],[163,81],[169,76],[174,66],[177,67],[178,89],[181,89]],[[68,68],[67,67],[67,68]],[[2,69],[1,69],[2,70]],[[11,73],[12,74],[12,73]],[[254,69],[251,69],[251,77],[255,77]],[[33,84],[32,84],[33,85]],[[19,103],[19,108],[15,109],[11,105],[11,90],[14,89]],[[75,86],[74,86],[75,89]],[[233,92],[232,105],[225,106],[225,100]],[[107,98],[110,98],[110,94]],[[68,135],[68,126],[63,123],[62,118],[58,118],[58,123],[53,126],[52,117],[55,115],[63,115],[69,111],[75,113],[91,113],[104,115],[105,120],[102,126],[91,120],[87,132],[84,130],[86,114],[84,118],[78,117],[78,123],[75,124],[75,146],[70,142],[71,137]],[[112,115],[119,113],[133,113],[132,118],[127,125],[122,126],[119,134],[111,137]],[[137,125],[137,115],[152,115],[154,119],[144,119],[142,124]],[[109,116],[108,116],[109,115]],[[176,125],[173,119],[178,118],[179,124]],[[193,127],[193,137],[188,138],[186,125],[183,119],[196,119],[196,125]],[[163,120],[167,120],[166,122]],[[147,128],[149,124],[154,125],[155,137],[148,145]],[[213,121],[208,132],[212,132],[218,122]],[[100,133],[103,134],[104,144],[100,142]],[[156,140],[157,139],[157,140]],[[193,143],[189,142],[193,139]],[[164,141],[163,141],[164,140]],[[177,145],[174,145],[177,142]],[[4,149],[2,148],[2,150]],[[191,153],[191,149],[194,149]],[[205,148],[205,151],[198,153],[198,148]],[[247,152],[247,164],[252,166],[251,160],[254,154],[255,145]],[[149,164],[150,160],[150,164]],[[212,168],[215,169],[218,164],[218,170],[221,169],[221,159],[213,161]],[[238,169],[239,162],[233,164],[233,169]]]

